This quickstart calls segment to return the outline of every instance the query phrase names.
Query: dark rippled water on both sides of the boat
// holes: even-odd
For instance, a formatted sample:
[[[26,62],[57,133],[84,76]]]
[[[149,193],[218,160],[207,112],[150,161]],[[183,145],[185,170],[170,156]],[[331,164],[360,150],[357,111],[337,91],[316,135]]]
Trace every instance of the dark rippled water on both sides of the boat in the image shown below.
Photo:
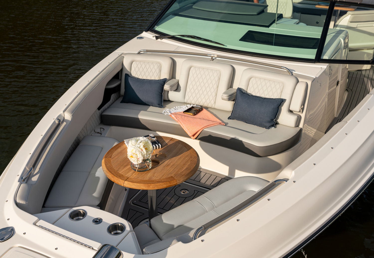
[[[0,0],[0,173],[53,103],[92,66],[140,34],[166,3]],[[304,248],[307,257],[374,258],[373,203],[371,185]]]

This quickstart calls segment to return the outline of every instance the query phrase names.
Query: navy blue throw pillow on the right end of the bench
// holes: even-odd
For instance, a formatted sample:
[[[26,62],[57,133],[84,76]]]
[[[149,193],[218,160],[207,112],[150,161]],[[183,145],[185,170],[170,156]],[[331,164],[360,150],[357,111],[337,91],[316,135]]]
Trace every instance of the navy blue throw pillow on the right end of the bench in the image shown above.
[[[275,125],[275,119],[283,101],[285,99],[271,99],[251,95],[242,88],[237,88],[233,111],[229,119],[270,129]]]

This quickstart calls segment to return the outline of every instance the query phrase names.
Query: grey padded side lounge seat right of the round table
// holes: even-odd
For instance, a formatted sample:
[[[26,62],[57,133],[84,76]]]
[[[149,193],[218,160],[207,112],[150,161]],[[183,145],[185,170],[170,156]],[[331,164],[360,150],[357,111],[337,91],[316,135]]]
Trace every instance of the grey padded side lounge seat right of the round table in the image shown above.
[[[151,226],[135,227],[144,254],[160,251],[178,241],[189,242],[191,232],[217,218],[269,183],[258,177],[237,177],[164,214],[154,217]],[[183,240],[184,238],[184,240]],[[162,241],[162,242],[161,242]]]

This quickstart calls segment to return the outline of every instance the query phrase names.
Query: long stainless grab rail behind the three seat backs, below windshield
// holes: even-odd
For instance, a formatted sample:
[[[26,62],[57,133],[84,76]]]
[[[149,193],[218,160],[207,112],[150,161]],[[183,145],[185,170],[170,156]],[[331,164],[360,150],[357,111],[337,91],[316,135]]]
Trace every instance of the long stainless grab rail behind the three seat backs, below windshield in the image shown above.
[[[183,52],[183,51],[171,51],[171,50],[148,50],[148,49],[142,49],[137,52],[137,54],[142,53],[152,53],[152,54],[174,54],[174,55],[184,55],[184,56],[202,56],[202,57],[210,57],[211,61],[214,59],[221,59],[221,60],[230,60],[230,61],[237,61],[237,62],[243,62],[243,63],[251,63],[252,65],[260,65],[270,68],[275,68],[279,70],[283,70],[288,72],[289,75],[293,75],[291,70],[280,65],[272,65],[269,63],[262,63],[257,61],[251,61],[251,60],[245,60],[241,58],[236,57],[228,57],[228,56],[220,56],[220,55],[212,55],[212,54],[204,54],[204,53],[194,53],[194,52]]]

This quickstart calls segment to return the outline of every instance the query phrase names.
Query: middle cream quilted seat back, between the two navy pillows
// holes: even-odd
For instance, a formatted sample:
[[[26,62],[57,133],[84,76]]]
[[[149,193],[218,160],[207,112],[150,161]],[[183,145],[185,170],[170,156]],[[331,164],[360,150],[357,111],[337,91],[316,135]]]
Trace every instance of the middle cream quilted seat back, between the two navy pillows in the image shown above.
[[[233,102],[221,99],[230,88],[233,67],[225,63],[187,59],[181,67],[179,86],[170,91],[172,101],[231,111]]]

